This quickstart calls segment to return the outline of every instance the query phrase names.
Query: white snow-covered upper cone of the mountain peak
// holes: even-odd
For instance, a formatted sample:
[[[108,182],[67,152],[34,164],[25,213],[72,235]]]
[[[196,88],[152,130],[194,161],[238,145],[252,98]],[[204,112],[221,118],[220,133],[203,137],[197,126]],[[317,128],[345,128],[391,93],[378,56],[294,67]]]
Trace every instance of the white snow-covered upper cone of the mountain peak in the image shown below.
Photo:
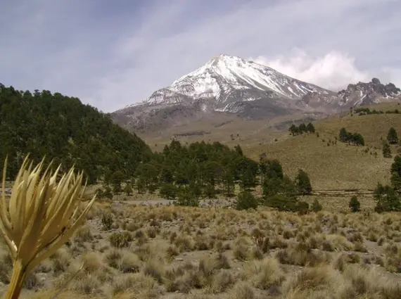
[[[238,92],[241,98],[238,98]],[[170,105],[213,98],[215,108],[221,110],[227,106],[227,102],[253,101],[257,98],[299,99],[308,92],[328,91],[288,77],[265,65],[236,56],[220,55],[180,77],[170,87],[155,91],[141,104]]]

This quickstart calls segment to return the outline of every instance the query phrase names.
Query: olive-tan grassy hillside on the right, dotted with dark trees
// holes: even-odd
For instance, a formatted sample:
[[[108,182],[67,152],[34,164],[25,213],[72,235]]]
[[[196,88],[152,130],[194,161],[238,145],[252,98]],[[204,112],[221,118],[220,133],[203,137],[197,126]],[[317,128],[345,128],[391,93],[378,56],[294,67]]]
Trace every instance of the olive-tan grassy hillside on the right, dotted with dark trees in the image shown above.
[[[390,103],[369,107],[386,111],[400,106]],[[303,168],[310,174],[316,189],[374,189],[377,182],[388,182],[393,159],[383,158],[382,145],[390,127],[401,133],[401,114],[343,113],[315,122],[315,127],[319,137],[316,134],[290,136],[285,132],[276,142],[243,146],[243,151],[252,158],[261,153],[278,158],[290,175]],[[366,146],[349,146],[336,141],[343,127],[362,134]],[[393,155],[397,147],[391,146]]]

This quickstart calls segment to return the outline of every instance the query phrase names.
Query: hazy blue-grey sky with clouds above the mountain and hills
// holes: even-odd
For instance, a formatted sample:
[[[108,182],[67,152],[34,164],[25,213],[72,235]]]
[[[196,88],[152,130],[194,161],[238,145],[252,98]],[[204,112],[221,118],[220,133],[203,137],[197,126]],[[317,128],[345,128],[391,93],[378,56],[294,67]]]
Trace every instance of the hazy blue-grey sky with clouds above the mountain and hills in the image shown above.
[[[401,87],[401,0],[0,0],[0,82],[103,112],[219,54],[340,90]]]

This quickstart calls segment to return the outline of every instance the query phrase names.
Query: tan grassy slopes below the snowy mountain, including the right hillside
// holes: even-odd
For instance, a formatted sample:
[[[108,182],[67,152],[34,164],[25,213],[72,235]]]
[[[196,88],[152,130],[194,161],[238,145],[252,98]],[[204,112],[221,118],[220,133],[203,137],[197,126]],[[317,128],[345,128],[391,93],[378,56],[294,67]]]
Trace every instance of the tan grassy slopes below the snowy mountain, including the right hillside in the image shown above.
[[[370,108],[376,110],[401,109],[397,103],[383,103]],[[257,159],[261,153],[269,158],[278,158],[284,171],[294,177],[298,169],[303,168],[312,179],[315,189],[374,189],[377,182],[386,183],[393,159],[383,158],[382,140],[386,140],[388,129],[401,127],[401,114],[381,114],[350,116],[350,113],[332,115],[314,122],[319,132],[303,136],[289,136],[288,132],[274,129],[283,121],[299,120],[300,115],[276,117],[272,120],[216,120],[193,124],[197,130],[210,132],[203,136],[179,138],[183,144],[193,141],[220,141],[234,146],[240,144],[246,155]],[[227,125],[215,127],[227,121]],[[192,125],[191,125],[192,126]],[[142,134],[141,137],[153,149],[161,151],[169,144],[173,134],[191,131],[191,126],[177,127],[160,135]],[[336,142],[340,129],[345,127],[350,132],[359,132],[364,136],[367,146],[357,147]],[[401,132],[398,132],[401,134]],[[233,134],[234,140],[230,135]],[[238,134],[238,136],[237,136]],[[276,139],[276,141],[275,141]],[[155,146],[157,144],[157,146]],[[329,146],[328,146],[329,144]],[[396,153],[397,146],[391,146]],[[365,153],[368,149],[368,153]],[[377,157],[374,155],[377,153]]]

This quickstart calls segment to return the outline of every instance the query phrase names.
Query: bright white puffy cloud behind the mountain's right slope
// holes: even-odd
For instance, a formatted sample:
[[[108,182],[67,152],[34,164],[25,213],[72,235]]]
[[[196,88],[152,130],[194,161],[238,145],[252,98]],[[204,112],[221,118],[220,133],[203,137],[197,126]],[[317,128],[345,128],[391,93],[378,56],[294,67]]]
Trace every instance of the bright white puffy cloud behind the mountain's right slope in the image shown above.
[[[343,89],[350,83],[367,82],[372,78],[369,72],[357,68],[354,57],[338,51],[312,57],[301,49],[294,49],[288,56],[258,56],[253,61],[333,91]]]

